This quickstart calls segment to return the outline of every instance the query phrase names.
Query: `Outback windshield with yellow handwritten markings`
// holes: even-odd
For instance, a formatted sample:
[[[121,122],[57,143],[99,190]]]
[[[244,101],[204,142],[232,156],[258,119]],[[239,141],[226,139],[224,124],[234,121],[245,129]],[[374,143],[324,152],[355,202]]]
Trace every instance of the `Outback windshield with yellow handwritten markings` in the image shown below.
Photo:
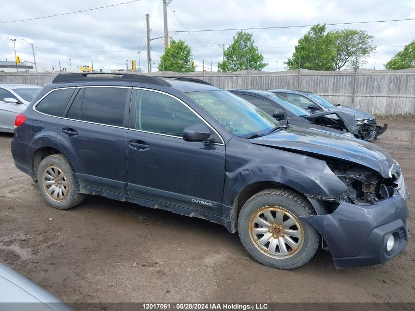
[[[186,93],[221,125],[239,138],[265,135],[278,122],[245,99],[224,90]]]

